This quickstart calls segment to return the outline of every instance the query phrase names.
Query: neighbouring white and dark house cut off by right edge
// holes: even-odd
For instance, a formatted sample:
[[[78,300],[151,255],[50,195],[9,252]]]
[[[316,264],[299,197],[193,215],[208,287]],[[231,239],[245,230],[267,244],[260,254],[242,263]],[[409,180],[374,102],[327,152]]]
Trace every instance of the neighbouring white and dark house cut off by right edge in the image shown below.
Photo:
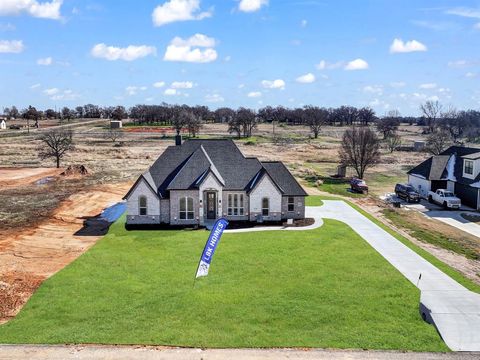
[[[480,148],[451,146],[410,170],[408,182],[424,198],[448,189],[462,204],[480,210]]]

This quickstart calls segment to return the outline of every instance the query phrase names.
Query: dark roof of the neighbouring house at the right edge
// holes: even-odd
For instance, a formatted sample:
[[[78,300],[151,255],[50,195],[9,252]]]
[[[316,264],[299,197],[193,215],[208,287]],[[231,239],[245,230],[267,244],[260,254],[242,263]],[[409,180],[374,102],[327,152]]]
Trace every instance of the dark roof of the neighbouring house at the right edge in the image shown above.
[[[432,156],[408,172],[412,176],[427,180],[453,180],[470,185],[480,181],[480,174],[475,179],[463,177],[463,161],[457,158],[479,159],[480,149],[463,146],[451,146],[440,155]],[[450,160],[450,161],[449,161]]]

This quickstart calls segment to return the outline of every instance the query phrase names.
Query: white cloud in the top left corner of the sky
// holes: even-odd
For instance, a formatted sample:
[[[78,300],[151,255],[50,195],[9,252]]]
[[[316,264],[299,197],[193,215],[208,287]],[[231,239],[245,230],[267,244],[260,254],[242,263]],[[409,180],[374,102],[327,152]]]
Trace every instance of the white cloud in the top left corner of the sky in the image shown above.
[[[60,8],[63,0],[39,2],[37,0],[2,0],[0,2],[0,15],[28,14],[37,18],[61,19]]]

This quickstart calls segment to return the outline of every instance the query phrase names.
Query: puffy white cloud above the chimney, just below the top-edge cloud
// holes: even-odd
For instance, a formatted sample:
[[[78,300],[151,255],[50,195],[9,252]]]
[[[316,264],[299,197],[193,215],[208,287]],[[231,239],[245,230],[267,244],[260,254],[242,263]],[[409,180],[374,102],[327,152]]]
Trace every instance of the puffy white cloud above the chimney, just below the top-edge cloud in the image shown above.
[[[216,40],[203,34],[195,34],[188,39],[175,37],[167,46],[163,59],[165,61],[185,61],[208,63],[218,57],[214,49]],[[202,50],[201,48],[205,48]]]

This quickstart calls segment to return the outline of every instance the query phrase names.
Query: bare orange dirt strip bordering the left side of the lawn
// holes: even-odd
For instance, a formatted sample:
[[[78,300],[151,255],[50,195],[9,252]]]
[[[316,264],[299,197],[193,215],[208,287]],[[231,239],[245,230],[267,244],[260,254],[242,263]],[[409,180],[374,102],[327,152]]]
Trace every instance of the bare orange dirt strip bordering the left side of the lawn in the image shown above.
[[[102,236],[77,232],[82,229],[85,218],[120,201],[129,186],[129,183],[102,185],[78,192],[35,228],[2,234],[0,323],[14,317],[42,281],[75,260]]]

